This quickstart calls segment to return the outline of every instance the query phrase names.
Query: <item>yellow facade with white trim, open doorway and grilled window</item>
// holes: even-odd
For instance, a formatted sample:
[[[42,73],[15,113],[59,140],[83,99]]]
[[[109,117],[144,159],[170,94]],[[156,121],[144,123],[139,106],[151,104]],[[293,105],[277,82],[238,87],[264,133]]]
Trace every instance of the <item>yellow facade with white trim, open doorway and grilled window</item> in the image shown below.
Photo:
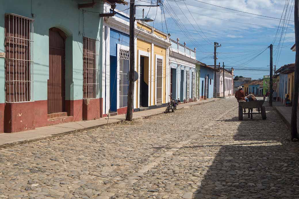
[[[164,106],[168,103],[170,92],[169,37],[140,21],[137,21],[135,35],[135,70],[138,80],[135,82],[134,111]]]

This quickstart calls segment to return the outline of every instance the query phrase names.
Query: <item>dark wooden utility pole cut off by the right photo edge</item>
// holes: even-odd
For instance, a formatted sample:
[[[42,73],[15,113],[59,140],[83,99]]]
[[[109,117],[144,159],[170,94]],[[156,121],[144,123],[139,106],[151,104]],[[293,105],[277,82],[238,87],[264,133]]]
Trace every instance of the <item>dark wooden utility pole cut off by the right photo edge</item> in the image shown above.
[[[297,110],[298,110],[298,91],[299,91],[299,18],[298,18],[298,0],[295,0],[294,20],[295,20],[295,45],[296,45],[296,61],[295,61],[295,79],[292,99],[292,115],[291,115],[291,140],[298,139],[297,130]]]

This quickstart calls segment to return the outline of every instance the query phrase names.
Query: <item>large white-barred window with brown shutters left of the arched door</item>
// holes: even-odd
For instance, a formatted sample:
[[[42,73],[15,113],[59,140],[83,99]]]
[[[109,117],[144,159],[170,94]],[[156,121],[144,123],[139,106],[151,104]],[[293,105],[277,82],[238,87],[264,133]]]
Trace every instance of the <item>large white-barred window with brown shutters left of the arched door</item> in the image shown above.
[[[33,100],[33,19],[5,14],[5,101]]]

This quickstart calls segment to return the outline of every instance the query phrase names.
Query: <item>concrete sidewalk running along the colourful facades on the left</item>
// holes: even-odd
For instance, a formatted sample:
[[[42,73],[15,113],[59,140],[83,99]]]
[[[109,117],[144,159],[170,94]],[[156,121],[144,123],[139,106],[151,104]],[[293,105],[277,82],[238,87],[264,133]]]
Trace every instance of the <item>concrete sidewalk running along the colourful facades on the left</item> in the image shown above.
[[[206,100],[200,100],[198,102],[190,102],[186,104],[180,104],[178,109],[189,108],[193,105],[198,105],[202,103],[212,102],[219,100],[217,98],[211,98]],[[157,114],[161,114],[165,111],[165,107],[150,109],[146,111],[138,111],[133,113],[133,119],[149,117]],[[119,123],[126,119],[126,115],[116,115],[109,117],[109,124]],[[17,133],[0,133],[0,148],[10,147],[17,144],[27,143],[31,141],[42,140],[46,138],[52,138],[56,136],[66,135],[70,133],[80,132],[84,130],[89,130],[97,128],[99,126],[107,125],[108,117],[103,117],[98,120],[89,121],[78,121],[69,122],[63,124],[57,124],[52,126],[39,127],[34,130],[17,132]]]

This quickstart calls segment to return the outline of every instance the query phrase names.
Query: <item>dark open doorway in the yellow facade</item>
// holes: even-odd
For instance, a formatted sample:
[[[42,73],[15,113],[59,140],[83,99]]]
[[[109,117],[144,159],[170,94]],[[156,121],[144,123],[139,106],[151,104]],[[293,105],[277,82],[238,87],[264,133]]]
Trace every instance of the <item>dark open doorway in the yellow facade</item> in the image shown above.
[[[140,107],[148,107],[149,99],[149,66],[148,57],[140,56],[140,91],[139,105]]]

